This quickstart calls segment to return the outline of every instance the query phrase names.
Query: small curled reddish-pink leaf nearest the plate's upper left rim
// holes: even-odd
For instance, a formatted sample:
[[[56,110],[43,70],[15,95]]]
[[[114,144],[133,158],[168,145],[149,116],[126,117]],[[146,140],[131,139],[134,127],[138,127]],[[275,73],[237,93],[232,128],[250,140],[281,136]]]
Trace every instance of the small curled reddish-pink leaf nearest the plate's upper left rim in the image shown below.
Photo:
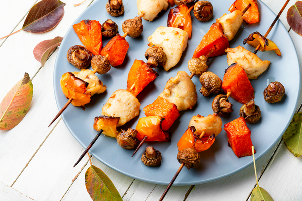
[[[63,37],[57,36],[54,39],[45,40],[36,45],[33,53],[35,59],[42,64],[42,67],[44,67],[45,62],[49,58],[50,54],[55,50],[55,48],[61,45],[62,40]]]

